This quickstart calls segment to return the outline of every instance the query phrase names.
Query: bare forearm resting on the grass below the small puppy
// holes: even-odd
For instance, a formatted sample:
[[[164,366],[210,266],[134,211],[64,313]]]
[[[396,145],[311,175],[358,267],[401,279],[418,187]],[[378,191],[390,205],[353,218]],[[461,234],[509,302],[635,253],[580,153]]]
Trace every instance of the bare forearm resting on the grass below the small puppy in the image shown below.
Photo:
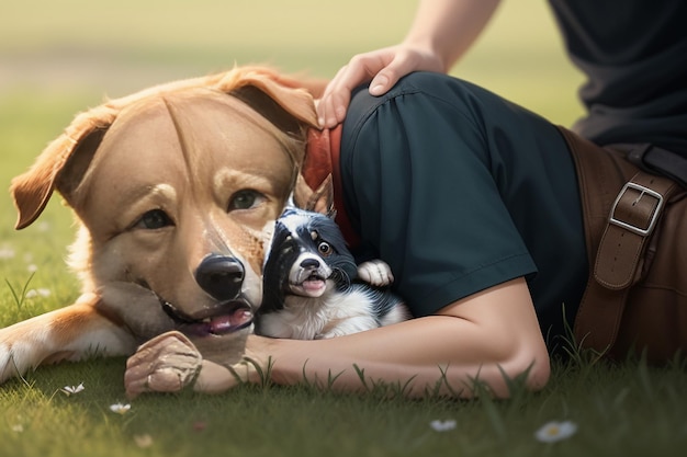
[[[527,373],[538,389],[549,377],[549,354],[523,279],[448,306],[442,315],[330,340],[250,336],[248,353],[269,354],[271,378],[360,391],[376,381],[469,398],[475,379],[507,397],[507,377]],[[334,382],[331,380],[336,378]],[[367,386],[367,387],[365,387]]]

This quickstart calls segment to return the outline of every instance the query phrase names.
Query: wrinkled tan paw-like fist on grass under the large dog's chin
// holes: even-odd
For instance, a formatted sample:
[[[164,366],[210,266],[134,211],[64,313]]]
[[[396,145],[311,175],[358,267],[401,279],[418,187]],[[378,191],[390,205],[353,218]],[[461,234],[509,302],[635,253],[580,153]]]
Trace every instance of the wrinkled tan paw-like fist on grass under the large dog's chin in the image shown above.
[[[193,384],[202,362],[201,353],[182,333],[171,331],[156,336],[126,362],[126,396],[178,392]]]

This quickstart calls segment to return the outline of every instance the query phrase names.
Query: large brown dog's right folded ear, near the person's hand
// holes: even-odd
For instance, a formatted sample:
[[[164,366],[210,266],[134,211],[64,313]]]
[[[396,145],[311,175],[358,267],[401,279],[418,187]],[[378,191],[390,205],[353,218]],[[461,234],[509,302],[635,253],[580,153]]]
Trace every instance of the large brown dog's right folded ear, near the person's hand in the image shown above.
[[[282,132],[301,134],[317,127],[314,96],[324,81],[296,80],[262,67],[241,67],[225,73],[217,89],[256,110]]]

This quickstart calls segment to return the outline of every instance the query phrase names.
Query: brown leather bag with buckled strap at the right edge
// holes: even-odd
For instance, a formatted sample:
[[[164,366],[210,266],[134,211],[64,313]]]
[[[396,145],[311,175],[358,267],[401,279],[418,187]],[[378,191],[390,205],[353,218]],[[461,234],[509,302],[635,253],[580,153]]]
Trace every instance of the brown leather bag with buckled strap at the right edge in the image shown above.
[[[589,279],[575,318],[584,347],[652,363],[687,355],[687,192],[560,128],[577,169]]]

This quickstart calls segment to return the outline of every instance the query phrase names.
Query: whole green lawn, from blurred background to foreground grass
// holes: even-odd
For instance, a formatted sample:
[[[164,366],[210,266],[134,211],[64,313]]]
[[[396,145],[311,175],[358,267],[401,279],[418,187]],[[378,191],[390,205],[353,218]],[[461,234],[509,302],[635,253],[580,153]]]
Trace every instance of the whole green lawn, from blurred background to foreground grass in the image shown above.
[[[72,115],[151,83],[234,62],[334,75],[351,55],[403,37],[414,1],[10,0],[0,14],[0,182],[22,172]],[[504,2],[454,75],[570,125],[582,113],[543,1]],[[58,198],[30,228],[12,230],[0,198],[0,325],[78,296],[64,258],[74,237]],[[541,392],[514,385],[493,401],[408,401],[307,387],[241,387],[125,402],[123,358],[42,367],[0,386],[0,455],[13,456],[673,456],[687,448],[685,366],[554,363]],[[67,396],[65,386],[83,384]],[[432,421],[455,421],[436,431]],[[571,421],[554,444],[534,433]],[[447,422],[446,424],[453,424]]]

